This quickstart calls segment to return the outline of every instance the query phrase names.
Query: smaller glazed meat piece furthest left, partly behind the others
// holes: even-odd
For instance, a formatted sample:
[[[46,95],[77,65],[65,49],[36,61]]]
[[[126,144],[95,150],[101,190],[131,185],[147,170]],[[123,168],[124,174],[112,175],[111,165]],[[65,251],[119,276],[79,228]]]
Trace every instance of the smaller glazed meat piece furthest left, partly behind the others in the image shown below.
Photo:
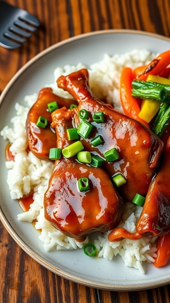
[[[43,88],[39,92],[38,99],[31,107],[26,122],[26,131],[30,150],[35,156],[43,160],[49,160],[50,148],[56,147],[56,134],[51,131],[51,113],[47,111],[47,104],[57,101],[58,107],[70,107],[77,103],[72,99],[64,99],[52,92],[51,88]],[[48,124],[45,128],[36,126],[39,116],[47,118]]]

